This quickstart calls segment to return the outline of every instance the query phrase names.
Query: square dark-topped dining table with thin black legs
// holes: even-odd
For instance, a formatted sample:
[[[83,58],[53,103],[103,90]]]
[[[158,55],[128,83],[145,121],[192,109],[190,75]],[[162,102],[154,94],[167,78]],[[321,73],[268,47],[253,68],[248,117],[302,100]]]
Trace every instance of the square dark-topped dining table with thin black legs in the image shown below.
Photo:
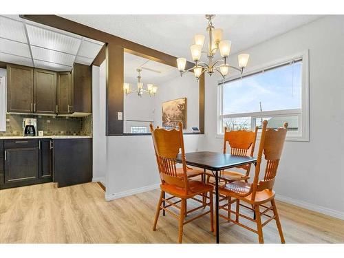
[[[197,151],[185,153],[186,164],[212,171],[215,176],[215,217],[216,217],[216,243],[219,244],[219,172],[225,169],[244,166],[246,164],[256,164],[257,158],[249,156],[239,156],[224,154],[213,151]],[[178,154],[176,162],[182,163],[182,155]]]

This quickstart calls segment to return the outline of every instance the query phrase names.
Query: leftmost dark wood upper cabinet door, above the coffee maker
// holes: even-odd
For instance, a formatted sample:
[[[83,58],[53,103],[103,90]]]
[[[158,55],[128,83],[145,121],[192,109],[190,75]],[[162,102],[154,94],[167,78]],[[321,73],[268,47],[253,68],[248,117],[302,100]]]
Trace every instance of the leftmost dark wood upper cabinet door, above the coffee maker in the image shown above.
[[[34,69],[7,65],[7,111],[32,113],[34,106]]]

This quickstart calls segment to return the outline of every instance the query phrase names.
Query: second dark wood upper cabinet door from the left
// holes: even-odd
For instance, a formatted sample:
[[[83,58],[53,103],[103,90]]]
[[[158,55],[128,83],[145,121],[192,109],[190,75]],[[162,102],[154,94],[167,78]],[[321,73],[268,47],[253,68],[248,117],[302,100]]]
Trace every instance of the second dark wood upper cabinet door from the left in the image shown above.
[[[56,72],[34,69],[34,112],[56,114]]]

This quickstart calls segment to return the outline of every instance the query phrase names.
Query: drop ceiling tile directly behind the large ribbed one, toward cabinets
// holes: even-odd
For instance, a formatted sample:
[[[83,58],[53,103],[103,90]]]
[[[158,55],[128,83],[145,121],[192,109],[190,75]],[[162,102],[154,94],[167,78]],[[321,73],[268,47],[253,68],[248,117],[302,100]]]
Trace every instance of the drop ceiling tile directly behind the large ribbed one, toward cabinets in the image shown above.
[[[72,66],[75,56],[72,54],[65,54],[54,50],[47,50],[42,47],[31,46],[32,57],[41,61],[48,61],[58,63],[61,65]]]

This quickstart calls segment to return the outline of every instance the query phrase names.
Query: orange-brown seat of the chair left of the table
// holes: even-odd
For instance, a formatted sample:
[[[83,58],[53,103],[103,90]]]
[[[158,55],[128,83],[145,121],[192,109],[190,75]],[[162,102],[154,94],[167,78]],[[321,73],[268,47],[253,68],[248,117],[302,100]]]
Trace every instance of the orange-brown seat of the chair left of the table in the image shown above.
[[[174,195],[180,198],[191,198],[200,193],[207,193],[213,191],[211,184],[204,184],[203,182],[196,180],[189,180],[189,192],[185,193],[185,189],[175,186],[173,184],[160,184],[160,189],[170,195]]]

